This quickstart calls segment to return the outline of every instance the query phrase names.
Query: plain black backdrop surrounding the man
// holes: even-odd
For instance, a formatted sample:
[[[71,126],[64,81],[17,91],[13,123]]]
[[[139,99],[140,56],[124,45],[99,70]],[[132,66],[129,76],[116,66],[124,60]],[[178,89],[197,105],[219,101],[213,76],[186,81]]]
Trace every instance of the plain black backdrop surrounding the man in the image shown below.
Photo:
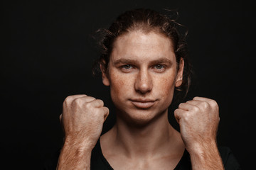
[[[188,27],[195,71],[186,100],[204,96],[218,102],[218,144],[233,150],[242,169],[252,168],[256,80],[252,1],[94,0],[1,3],[0,146],[6,169],[40,169],[60,147],[58,116],[66,96],[95,96],[113,110],[109,89],[100,77],[92,77],[91,65],[99,52],[91,35],[109,26],[119,13],[139,7],[178,9],[178,22]],[[170,121],[178,128],[174,108]],[[103,132],[113,117],[112,113]]]

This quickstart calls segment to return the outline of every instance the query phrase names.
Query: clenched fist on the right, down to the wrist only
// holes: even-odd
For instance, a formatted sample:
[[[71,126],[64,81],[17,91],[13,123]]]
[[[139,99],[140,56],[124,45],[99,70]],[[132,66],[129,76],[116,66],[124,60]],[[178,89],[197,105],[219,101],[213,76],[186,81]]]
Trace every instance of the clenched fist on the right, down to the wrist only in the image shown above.
[[[188,152],[198,152],[201,147],[216,142],[220,118],[215,101],[195,97],[192,101],[181,103],[174,115],[180,125],[181,137]]]

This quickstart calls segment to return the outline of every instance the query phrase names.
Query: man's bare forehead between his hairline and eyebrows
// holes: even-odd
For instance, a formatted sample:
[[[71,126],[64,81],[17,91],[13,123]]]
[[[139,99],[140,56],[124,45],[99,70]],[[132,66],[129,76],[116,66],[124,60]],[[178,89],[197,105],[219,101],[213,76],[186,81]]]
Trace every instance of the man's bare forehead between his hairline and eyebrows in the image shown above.
[[[175,60],[174,47],[169,38],[153,31],[125,33],[114,41],[110,60],[130,58],[133,60],[156,60],[166,57]]]

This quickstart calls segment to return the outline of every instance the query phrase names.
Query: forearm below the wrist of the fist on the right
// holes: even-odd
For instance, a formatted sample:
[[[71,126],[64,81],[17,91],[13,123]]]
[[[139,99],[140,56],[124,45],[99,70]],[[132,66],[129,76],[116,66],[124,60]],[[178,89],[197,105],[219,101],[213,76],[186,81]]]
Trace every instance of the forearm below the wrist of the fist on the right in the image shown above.
[[[223,162],[215,142],[199,146],[196,150],[191,151],[190,155],[193,170],[224,169]]]

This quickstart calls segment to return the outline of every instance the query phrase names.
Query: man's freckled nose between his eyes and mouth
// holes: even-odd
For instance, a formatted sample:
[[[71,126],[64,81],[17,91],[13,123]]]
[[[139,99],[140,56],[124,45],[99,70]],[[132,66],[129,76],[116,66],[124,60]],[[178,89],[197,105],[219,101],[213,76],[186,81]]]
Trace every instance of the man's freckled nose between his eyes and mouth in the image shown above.
[[[147,69],[140,70],[139,73],[137,74],[135,84],[134,84],[135,91],[141,94],[146,94],[152,90],[152,86],[153,86],[152,79],[148,70]]]

